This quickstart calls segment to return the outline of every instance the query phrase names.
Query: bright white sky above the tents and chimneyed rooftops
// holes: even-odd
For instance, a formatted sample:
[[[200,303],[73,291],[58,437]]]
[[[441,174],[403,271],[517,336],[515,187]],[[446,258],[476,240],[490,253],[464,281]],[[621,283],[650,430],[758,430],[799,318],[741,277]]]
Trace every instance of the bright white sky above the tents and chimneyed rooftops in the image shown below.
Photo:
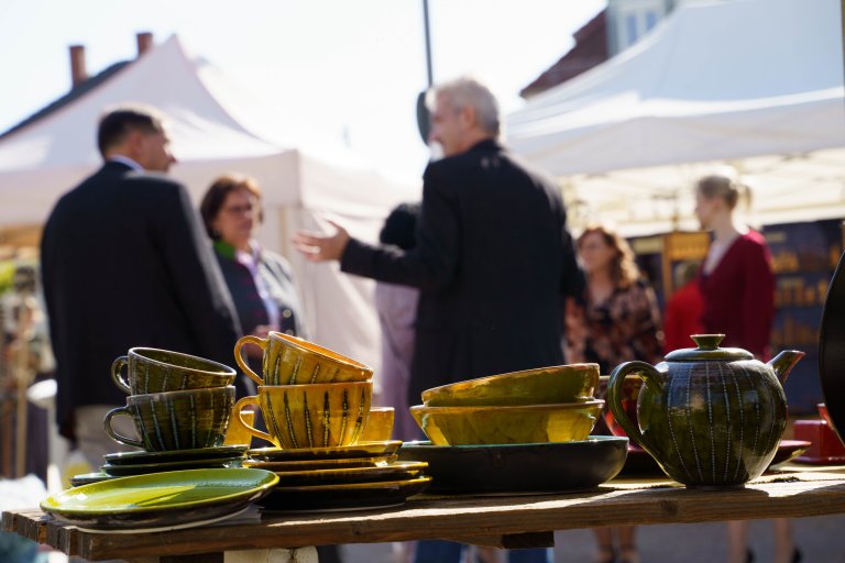
[[[435,80],[470,74],[505,112],[572,46],[604,0],[430,0]],[[282,118],[341,140],[387,172],[418,176],[426,87],[421,0],[0,0],[0,131],[70,87],[68,45],[89,74],[135,54],[135,33],[177,33]],[[285,120],[282,120],[285,122]],[[293,125],[298,123],[298,125]]]

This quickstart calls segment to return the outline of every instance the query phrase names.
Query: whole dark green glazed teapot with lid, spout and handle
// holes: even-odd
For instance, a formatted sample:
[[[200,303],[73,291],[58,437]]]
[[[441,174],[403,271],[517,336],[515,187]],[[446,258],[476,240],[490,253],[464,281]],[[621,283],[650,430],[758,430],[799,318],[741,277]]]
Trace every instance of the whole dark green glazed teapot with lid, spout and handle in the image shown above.
[[[628,437],[671,478],[688,487],[742,486],[766,471],[777,452],[787,424],[781,384],[804,353],[787,350],[764,364],[748,351],[718,347],[724,334],[691,338],[698,347],[670,352],[657,366],[617,366],[607,402]],[[622,406],[626,375],[645,383],[638,423]]]

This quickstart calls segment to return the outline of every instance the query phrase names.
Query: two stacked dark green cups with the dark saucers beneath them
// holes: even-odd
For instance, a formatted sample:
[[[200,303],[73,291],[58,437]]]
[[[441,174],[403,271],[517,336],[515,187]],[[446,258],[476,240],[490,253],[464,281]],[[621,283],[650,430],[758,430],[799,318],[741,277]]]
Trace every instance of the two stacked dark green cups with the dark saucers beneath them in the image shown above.
[[[100,474],[77,475],[73,484],[240,466],[248,446],[223,445],[234,404],[234,369],[178,352],[133,347],[114,360],[111,374],[129,396],[125,407],[106,415],[105,430],[116,441],[142,450],[107,454]],[[117,431],[116,417],[130,417],[138,435]]]

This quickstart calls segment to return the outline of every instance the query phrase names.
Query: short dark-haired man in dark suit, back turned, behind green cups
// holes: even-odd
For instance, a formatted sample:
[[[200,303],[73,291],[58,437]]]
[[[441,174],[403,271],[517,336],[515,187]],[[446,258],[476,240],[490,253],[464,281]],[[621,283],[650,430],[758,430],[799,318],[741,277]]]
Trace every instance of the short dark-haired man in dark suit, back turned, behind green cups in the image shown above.
[[[102,430],[125,404],[117,356],[153,346],[230,365],[240,334],[187,190],[164,176],[176,161],[161,117],[110,111],[98,145],[106,163],[58,200],[41,243],[59,431],[94,467],[118,448]]]

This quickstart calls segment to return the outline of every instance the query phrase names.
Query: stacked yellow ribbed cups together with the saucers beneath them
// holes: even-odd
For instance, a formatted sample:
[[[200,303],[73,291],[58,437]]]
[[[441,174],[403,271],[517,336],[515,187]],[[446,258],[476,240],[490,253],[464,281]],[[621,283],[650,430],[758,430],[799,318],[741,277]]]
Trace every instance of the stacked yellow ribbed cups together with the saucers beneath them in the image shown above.
[[[263,377],[240,355],[252,343],[264,351]],[[267,510],[356,510],[402,504],[429,483],[424,462],[396,462],[400,441],[391,441],[392,409],[378,409],[375,438],[366,437],[373,372],[366,365],[303,339],[271,332],[266,339],[244,336],[235,360],[259,383],[256,396],[234,406],[234,424],[273,448],[249,450],[245,466],[273,471],[278,485],[264,498]],[[241,418],[257,407],[263,432]],[[376,409],[372,409],[376,413]],[[389,415],[387,417],[386,415]],[[377,435],[384,432],[386,434]]]

